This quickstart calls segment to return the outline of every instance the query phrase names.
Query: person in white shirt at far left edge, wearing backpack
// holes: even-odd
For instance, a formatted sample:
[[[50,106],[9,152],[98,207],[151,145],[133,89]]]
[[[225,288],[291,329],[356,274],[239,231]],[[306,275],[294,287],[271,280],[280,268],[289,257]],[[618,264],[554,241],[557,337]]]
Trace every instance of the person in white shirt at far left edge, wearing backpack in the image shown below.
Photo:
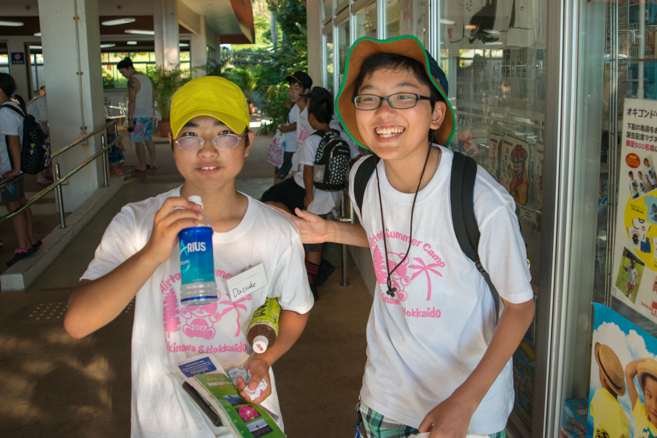
[[[14,91],[16,91],[14,78],[9,74],[0,73],[0,175],[2,175],[3,183],[20,175],[23,118],[14,108],[22,114],[27,114],[27,111],[24,100],[22,97],[14,95]],[[24,184],[24,178],[21,178],[0,188],[0,198],[7,206],[9,213],[27,202]],[[37,241],[34,238],[30,208],[14,216],[11,221],[18,239],[18,248],[14,250],[14,257],[7,262],[7,266],[14,265],[17,261],[34,254],[41,246],[41,240]]]

